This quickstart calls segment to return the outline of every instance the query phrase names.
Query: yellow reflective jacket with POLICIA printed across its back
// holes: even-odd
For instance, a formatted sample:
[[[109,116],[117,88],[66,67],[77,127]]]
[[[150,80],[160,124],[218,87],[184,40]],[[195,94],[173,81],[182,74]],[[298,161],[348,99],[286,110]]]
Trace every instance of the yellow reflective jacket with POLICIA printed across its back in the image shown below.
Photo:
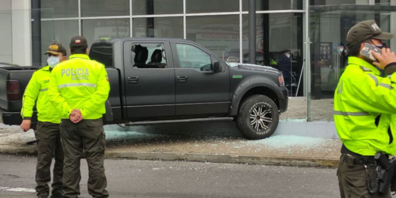
[[[80,109],[83,119],[98,119],[106,113],[105,101],[110,91],[104,65],[85,54],[73,54],[51,72],[49,100],[68,119],[73,109]]]

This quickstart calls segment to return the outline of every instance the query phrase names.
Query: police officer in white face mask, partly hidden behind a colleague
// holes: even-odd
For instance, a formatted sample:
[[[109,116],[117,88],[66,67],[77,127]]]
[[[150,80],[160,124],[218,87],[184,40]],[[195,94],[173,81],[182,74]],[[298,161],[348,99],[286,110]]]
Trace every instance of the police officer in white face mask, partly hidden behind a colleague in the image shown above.
[[[51,181],[50,167],[52,157],[55,158],[53,167],[53,182],[51,198],[62,197],[63,151],[60,146],[59,123],[60,116],[48,100],[48,84],[51,70],[59,62],[66,60],[66,49],[61,44],[53,43],[49,46],[48,64],[37,69],[30,79],[23,94],[21,128],[26,132],[31,125],[33,106],[37,100],[37,119],[39,120],[35,136],[37,140],[36,192],[39,198],[49,195],[48,183]]]

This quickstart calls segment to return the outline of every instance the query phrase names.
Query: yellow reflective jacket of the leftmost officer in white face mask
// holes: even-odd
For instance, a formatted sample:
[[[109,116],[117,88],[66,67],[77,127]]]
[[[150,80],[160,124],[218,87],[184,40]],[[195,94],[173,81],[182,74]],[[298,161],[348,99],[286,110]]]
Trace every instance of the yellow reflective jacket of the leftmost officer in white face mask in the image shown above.
[[[37,118],[41,122],[60,123],[60,115],[48,100],[48,84],[51,77],[49,66],[37,69],[26,86],[22,98],[21,116],[31,119],[33,106],[37,99]]]

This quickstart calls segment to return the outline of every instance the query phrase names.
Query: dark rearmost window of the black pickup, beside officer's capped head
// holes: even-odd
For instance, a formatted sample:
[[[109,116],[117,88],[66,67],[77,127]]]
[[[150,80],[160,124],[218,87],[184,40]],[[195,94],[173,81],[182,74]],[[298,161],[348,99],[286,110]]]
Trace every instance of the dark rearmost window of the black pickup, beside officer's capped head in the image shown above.
[[[104,64],[105,67],[114,67],[112,44],[109,43],[93,44],[89,56],[91,59]]]

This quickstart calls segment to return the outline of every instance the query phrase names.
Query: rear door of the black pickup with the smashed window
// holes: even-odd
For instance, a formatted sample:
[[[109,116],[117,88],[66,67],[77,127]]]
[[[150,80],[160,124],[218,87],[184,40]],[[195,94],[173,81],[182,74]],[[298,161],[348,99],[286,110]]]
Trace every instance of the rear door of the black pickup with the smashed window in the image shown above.
[[[128,119],[175,115],[175,71],[168,42],[125,42],[124,69]]]

